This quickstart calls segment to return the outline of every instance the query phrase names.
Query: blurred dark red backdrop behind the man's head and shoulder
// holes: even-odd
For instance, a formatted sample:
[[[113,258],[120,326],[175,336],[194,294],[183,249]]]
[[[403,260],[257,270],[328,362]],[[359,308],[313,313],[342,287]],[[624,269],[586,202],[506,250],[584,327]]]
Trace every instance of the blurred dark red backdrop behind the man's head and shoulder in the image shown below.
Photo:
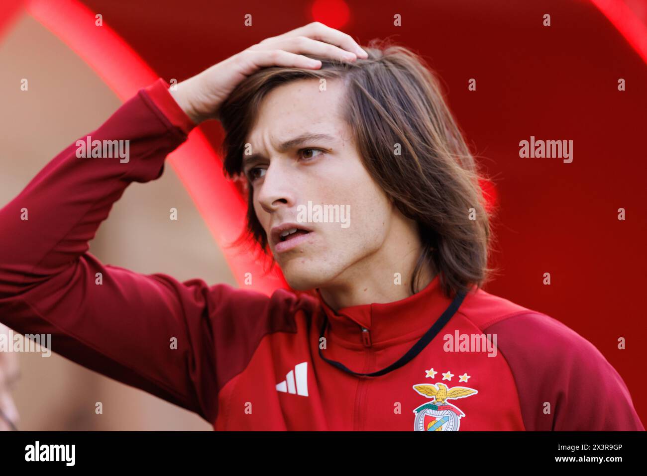
[[[66,3],[60,8],[72,5]],[[647,421],[645,1],[596,2],[615,8],[618,25],[584,0],[82,3],[166,80],[188,78],[314,20],[362,45],[389,37],[421,53],[494,179],[491,264],[501,273],[485,289],[545,312],[591,341],[624,378]],[[18,4],[0,7],[0,23],[25,14]],[[245,27],[245,14],[252,14],[252,27]],[[393,25],[395,14],[401,27]],[[551,15],[551,27],[542,25],[544,14]],[[476,91],[468,91],[470,78]],[[619,78],[626,91],[618,91]],[[219,124],[200,129],[217,149]],[[520,158],[519,142],[531,135],[573,140],[573,162]],[[625,221],[617,219],[619,208]],[[545,272],[550,286],[542,283]],[[617,348],[620,337],[625,350]]]

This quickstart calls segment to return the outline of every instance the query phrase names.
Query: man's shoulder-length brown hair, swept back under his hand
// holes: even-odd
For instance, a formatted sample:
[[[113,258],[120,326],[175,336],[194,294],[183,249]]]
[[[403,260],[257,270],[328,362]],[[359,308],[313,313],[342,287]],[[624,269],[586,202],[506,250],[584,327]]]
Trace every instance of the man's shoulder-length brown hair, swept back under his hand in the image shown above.
[[[241,169],[245,138],[261,100],[290,81],[339,78],[346,94],[342,114],[355,134],[365,168],[400,212],[418,224],[422,252],[413,270],[411,293],[419,290],[425,264],[440,275],[446,296],[472,285],[482,287],[493,270],[487,268],[491,237],[481,177],[439,81],[410,49],[375,39],[364,50],[366,60],[349,63],[308,55],[322,61],[316,70],[258,70],[221,106],[225,173],[242,179],[248,191],[247,229],[236,244],[252,238],[271,255],[254,211],[251,185]]]

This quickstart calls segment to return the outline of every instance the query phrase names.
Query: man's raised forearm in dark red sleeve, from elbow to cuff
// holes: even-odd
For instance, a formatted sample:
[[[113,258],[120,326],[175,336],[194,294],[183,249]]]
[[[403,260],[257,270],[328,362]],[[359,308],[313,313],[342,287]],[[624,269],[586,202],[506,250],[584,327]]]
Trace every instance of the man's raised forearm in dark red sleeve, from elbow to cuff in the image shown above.
[[[71,266],[128,184],[159,177],[164,158],[185,138],[140,92],[61,151],[0,210],[0,296]],[[114,155],[114,141],[129,157],[103,157]]]

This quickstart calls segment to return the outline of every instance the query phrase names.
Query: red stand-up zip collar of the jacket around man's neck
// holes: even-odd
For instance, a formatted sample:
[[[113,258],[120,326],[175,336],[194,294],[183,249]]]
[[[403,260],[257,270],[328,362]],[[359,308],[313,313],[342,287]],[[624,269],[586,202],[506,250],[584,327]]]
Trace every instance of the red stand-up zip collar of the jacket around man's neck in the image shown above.
[[[336,341],[351,347],[373,347],[419,338],[452,303],[445,297],[439,275],[421,291],[392,303],[372,303],[349,306],[334,311],[318,299],[329,321],[329,334]]]

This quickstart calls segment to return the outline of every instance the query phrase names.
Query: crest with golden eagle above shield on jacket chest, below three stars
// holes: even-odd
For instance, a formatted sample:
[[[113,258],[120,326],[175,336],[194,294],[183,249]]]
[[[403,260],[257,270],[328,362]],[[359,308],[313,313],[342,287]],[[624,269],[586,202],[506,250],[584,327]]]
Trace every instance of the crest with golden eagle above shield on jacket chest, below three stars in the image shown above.
[[[452,387],[441,384],[413,385],[413,389],[422,396],[433,398],[432,402],[421,405],[413,410],[415,431],[458,431],[461,417],[465,413],[460,408],[450,404],[447,400],[465,398],[478,393],[468,387]]]

